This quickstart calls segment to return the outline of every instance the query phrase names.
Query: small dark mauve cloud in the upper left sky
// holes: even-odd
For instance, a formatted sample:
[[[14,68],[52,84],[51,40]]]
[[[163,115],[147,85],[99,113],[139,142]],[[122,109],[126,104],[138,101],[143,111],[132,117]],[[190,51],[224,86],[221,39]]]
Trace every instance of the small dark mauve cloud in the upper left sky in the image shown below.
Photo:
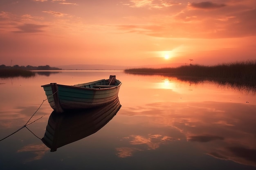
[[[17,26],[20,31],[13,31],[16,33],[38,33],[43,32],[42,28],[46,27],[47,25],[37,25],[37,24],[23,24]]]

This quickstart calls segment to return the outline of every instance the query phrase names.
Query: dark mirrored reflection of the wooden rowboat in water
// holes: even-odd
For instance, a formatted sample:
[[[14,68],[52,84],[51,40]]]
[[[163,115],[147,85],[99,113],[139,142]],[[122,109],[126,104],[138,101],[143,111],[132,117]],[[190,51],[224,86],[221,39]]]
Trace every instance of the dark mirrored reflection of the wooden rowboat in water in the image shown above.
[[[98,108],[75,110],[62,114],[53,111],[42,141],[51,149],[51,152],[54,152],[61,146],[97,132],[117,114],[120,108],[121,104],[117,97],[113,102]]]

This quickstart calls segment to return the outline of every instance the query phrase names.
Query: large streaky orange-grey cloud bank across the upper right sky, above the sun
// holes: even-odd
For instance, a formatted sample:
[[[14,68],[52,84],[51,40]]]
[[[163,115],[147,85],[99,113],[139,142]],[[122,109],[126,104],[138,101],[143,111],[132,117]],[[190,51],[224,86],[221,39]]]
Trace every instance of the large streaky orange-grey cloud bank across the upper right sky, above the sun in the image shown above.
[[[164,38],[238,38],[256,35],[256,9],[189,10],[150,18],[147,24],[117,25],[117,30]],[[147,18],[145,18],[146,20]]]

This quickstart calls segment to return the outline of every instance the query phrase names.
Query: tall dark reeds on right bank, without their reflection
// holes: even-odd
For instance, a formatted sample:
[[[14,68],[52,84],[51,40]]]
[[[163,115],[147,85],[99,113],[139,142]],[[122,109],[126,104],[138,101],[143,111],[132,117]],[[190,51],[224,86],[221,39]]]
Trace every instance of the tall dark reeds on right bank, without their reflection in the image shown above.
[[[133,68],[126,73],[164,73],[173,76],[228,79],[231,81],[256,82],[256,60],[218,64],[215,66],[189,65],[177,68]]]

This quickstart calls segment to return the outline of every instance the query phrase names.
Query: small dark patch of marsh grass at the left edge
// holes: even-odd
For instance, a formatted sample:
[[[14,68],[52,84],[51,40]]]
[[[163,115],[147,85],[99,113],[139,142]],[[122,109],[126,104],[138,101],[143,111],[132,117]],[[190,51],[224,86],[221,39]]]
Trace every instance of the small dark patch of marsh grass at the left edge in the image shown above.
[[[0,69],[0,77],[33,77],[35,73],[32,71],[18,69],[18,68],[2,68]]]

